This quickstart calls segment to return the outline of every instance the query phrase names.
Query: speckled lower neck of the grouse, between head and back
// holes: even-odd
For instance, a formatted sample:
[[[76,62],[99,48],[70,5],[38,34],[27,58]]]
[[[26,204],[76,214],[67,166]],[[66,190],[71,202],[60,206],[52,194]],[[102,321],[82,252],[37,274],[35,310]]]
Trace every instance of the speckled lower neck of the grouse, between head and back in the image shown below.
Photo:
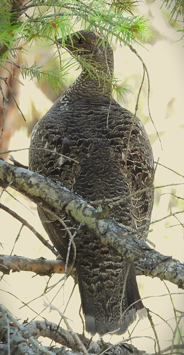
[[[61,95],[60,101],[67,103],[110,103],[112,84],[105,78],[94,78],[81,73],[74,83]]]

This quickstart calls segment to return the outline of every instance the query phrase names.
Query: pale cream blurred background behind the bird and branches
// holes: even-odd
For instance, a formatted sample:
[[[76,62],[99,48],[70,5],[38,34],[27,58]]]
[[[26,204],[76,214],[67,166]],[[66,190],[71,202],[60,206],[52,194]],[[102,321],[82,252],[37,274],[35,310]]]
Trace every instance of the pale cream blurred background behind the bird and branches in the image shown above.
[[[182,26],[179,22],[169,22],[171,10],[167,10],[162,4],[162,1],[159,0],[145,1],[141,2],[134,11],[135,15],[147,14],[147,18],[151,19],[154,32],[154,37],[144,47],[134,45],[134,48],[143,58],[149,71],[149,104],[156,128],[149,117],[146,78],[140,95],[137,115],[150,136],[155,162],[159,163],[156,166],[155,186],[162,186],[155,190],[154,210],[150,226],[152,231],[148,237],[156,245],[156,250],[184,262],[184,47],[183,40],[179,41],[181,32],[176,31]],[[80,23],[76,29],[80,29]],[[119,103],[134,113],[143,77],[143,65],[128,47],[120,47],[118,43],[115,44],[115,40],[112,42],[112,47],[115,55],[115,77],[119,82],[130,86],[130,92],[124,94],[124,100]],[[57,71],[60,67],[56,46],[48,45],[43,40],[36,40],[31,47],[27,45],[21,56],[22,58],[17,59],[17,64],[23,60],[29,66],[37,62],[43,69]],[[68,54],[62,49],[61,59],[65,60],[67,56]],[[23,121],[15,102],[13,102],[7,88],[4,87],[9,102],[6,108],[4,134],[0,141],[1,152],[29,147],[30,133],[35,123],[48,111],[58,96],[80,72],[75,71],[73,67],[67,75],[67,81],[62,82],[62,89],[57,95],[44,80],[40,88],[35,78],[30,80],[27,77],[26,80],[23,80],[16,67],[10,65],[10,68],[23,83],[23,85],[18,83],[11,75],[8,78],[26,122]],[[7,76],[7,73],[1,72],[1,76]],[[28,165],[28,150],[12,152],[11,155],[22,164]],[[9,161],[9,153],[3,154],[2,157]],[[21,215],[48,239],[38,218],[36,205],[10,188],[7,191],[11,195],[3,192],[0,202]],[[167,218],[170,213],[175,212],[179,213]],[[1,254],[10,255],[12,252],[12,255],[28,258],[41,256],[48,259],[55,258],[32,232],[25,226],[21,228],[21,223],[2,210],[0,210],[0,223]],[[63,286],[61,278],[62,275],[53,275],[49,279],[49,277],[35,276],[31,272],[23,271],[4,275],[0,282],[0,300],[21,321],[27,318],[28,321],[41,320],[44,317],[57,323],[60,321],[60,316],[56,312],[49,313],[47,309],[45,310],[43,302],[49,300],[63,312],[73,288],[73,279],[69,277]],[[138,283],[141,297],[148,297],[144,300],[144,304],[153,312],[152,320],[156,325],[160,346],[161,349],[165,349],[171,345],[178,322],[174,311],[184,311],[184,293],[177,294],[182,290],[169,282],[161,282],[157,278],[151,279],[141,276],[138,277]],[[175,294],[169,295],[168,288],[170,293]],[[72,320],[70,324],[73,330],[81,333],[82,322],[78,314],[79,308],[80,297],[76,286],[65,314]],[[180,315],[179,312],[176,314]],[[180,335],[184,335],[184,322],[182,322],[181,320],[180,334],[179,331],[174,333],[175,344],[180,344]],[[61,325],[65,327],[63,323]],[[130,327],[131,331],[135,325],[136,323]],[[124,334],[124,338],[128,338],[128,336],[128,333]],[[155,335],[147,319],[138,322],[131,336],[135,337],[132,340],[134,346],[148,353],[154,352],[153,338]],[[96,335],[94,339],[97,340],[98,336]],[[104,338],[104,340],[109,339],[110,336]],[[121,336],[114,335],[111,342],[118,342],[121,339]],[[44,345],[50,344],[49,339],[41,340]]]

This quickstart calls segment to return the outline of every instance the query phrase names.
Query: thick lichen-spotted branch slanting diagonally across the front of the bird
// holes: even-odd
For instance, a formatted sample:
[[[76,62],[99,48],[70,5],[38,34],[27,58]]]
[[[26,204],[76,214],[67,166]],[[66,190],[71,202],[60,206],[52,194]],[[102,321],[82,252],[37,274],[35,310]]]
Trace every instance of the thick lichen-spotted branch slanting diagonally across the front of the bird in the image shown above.
[[[135,262],[145,275],[168,280],[184,289],[184,264],[151,249],[143,239],[137,239],[126,229],[110,219],[102,218],[99,212],[86,201],[65,187],[27,169],[13,166],[0,160],[0,184],[11,187],[37,204],[64,211],[76,222],[109,245],[127,261]]]

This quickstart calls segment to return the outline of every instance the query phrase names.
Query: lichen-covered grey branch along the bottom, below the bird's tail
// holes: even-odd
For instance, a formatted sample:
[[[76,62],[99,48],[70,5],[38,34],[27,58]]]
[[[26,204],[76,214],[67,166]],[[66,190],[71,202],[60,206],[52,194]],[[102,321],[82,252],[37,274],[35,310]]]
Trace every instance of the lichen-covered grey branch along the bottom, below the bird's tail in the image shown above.
[[[9,328],[9,331],[7,329]],[[99,354],[103,351],[104,355],[147,355],[144,351],[136,349],[133,345],[118,344],[112,345],[110,343],[104,343],[99,340],[94,342],[85,338],[83,335],[77,334],[81,339],[84,346],[88,346],[88,353]],[[61,344],[61,348],[41,346],[38,340],[33,341],[33,337],[47,337],[55,342]],[[9,337],[9,339],[7,339]],[[57,324],[44,321],[33,321],[28,323],[19,323],[9,311],[7,311],[2,305],[0,305],[0,353],[2,355],[8,355],[8,345],[10,343],[11,354],[13,355],[80,355],[82,352],[78,351],[78,344],[71,333],[62,327],[58,327]],[[2,345],[2,346],[1,346]],[[68,351],[65,347],[72,349]]]

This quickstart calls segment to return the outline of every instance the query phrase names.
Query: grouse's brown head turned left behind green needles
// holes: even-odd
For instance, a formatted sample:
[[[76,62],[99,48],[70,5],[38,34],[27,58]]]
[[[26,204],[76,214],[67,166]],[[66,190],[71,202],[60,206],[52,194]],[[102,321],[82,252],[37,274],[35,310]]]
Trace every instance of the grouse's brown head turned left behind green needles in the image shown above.
[[[78,31],[68,35],[64,47],[66,47],[73,56],[80,57],[82,61],[89,62],[96,69],[113,75],[114,59],[113,50],[108,44],[100,44],[102,38],[94,31]],[[58,39],[58,43],[62,43],[62,38]],[[83,66],[83,64],[81,63]]]

